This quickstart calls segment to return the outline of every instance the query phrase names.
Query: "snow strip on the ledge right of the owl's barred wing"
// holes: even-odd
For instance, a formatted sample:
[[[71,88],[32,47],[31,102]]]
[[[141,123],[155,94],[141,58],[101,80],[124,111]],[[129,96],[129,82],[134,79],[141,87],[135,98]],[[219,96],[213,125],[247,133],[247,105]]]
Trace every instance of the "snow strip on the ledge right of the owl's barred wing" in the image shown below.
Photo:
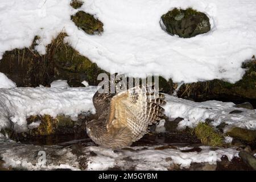
[[[235,104],[233,102],[194,102],[167,94],[166,101],[167,104],[164,109],[167,117],[183,118],[178,124],[179,129],[184,129],[186,126],[193,128],[199,122],[205,122],[205,119],[213,119],[210,122],[212,126],[218,126],[222,122],[228,124],[224,128],[224,132],[230,127],[256,130],[256,110],[234,107]],[[242,113],[230,114],[233,110],[240,110]]]

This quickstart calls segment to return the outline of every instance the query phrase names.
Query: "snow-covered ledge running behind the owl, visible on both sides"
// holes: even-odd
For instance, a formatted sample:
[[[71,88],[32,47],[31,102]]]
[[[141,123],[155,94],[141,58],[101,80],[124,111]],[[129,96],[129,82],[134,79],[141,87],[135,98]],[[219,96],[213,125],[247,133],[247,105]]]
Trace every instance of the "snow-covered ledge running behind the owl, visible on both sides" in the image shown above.
[[[96,86],[86,88],[2,88],[0,89],[0,130],[14,126],[16,131],[26,131],[26,118],[31,115],[70,115],[73,119],[82,112],[94,113],[92,97]],[[165,113],[169,118],[184,118],[179,127],[195,127],[205,119],[213,119],[212,125],[225,122],[229,127],[256,130],[256,110],[234,107],[232,102],[193,102],[166,94]],[[230,111],[240,113],[230,114]]]

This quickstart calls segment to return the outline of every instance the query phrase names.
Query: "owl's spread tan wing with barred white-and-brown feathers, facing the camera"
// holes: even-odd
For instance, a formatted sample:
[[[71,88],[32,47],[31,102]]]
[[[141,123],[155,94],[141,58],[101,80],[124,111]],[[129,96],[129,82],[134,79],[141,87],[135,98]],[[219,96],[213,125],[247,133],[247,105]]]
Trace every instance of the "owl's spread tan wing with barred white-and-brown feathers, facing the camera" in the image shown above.
[[[137,86],[112,98],[106,121],[109,132],[127,127],[135,142],[147,133],[148,125],[163,117],[164,109],[161,106],[166,104],[164,94],[149,93],[146,90]]]

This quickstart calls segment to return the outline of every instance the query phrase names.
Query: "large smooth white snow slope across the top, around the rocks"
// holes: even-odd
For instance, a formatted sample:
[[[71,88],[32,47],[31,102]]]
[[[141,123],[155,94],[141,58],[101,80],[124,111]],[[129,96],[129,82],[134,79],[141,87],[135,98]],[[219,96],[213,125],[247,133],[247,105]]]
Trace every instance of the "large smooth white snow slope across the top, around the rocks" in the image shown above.
[[[111,73],[159,73],[174,82],[222,78],[240,80],[242,61],[256,53],[256,1],[251,0],[86,0],[79,9],[104,23],[102,35],[79,30],[70,16],[70,0],[2,0],[0,59],[5,51],[29,47],[46,53],[61,31],[65,41]],[[208,15],[211,31],[194,38],[168,35],[160,17],[174,7],[192,7]]]

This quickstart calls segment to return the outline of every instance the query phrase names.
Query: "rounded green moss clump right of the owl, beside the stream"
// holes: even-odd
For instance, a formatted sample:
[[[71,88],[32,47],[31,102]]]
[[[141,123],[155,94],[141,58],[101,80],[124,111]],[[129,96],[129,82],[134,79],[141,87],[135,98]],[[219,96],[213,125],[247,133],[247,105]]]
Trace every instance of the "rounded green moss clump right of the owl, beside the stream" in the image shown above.
[[[200,122],[194,129],[196,137],[201,140],[201,143],[209,146],[222,146],[223,138],[218,134],[208,123]]]

